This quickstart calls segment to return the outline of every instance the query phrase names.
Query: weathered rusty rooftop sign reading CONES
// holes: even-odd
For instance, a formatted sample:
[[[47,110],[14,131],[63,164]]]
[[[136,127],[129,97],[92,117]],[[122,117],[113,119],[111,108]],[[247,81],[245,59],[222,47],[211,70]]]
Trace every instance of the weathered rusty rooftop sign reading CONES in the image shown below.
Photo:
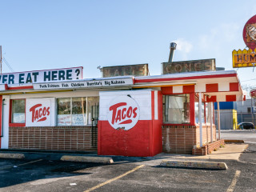
[[[191,71],[216,70],[215,59],[184,62],[162,62],[162,74],[176,74]]]

